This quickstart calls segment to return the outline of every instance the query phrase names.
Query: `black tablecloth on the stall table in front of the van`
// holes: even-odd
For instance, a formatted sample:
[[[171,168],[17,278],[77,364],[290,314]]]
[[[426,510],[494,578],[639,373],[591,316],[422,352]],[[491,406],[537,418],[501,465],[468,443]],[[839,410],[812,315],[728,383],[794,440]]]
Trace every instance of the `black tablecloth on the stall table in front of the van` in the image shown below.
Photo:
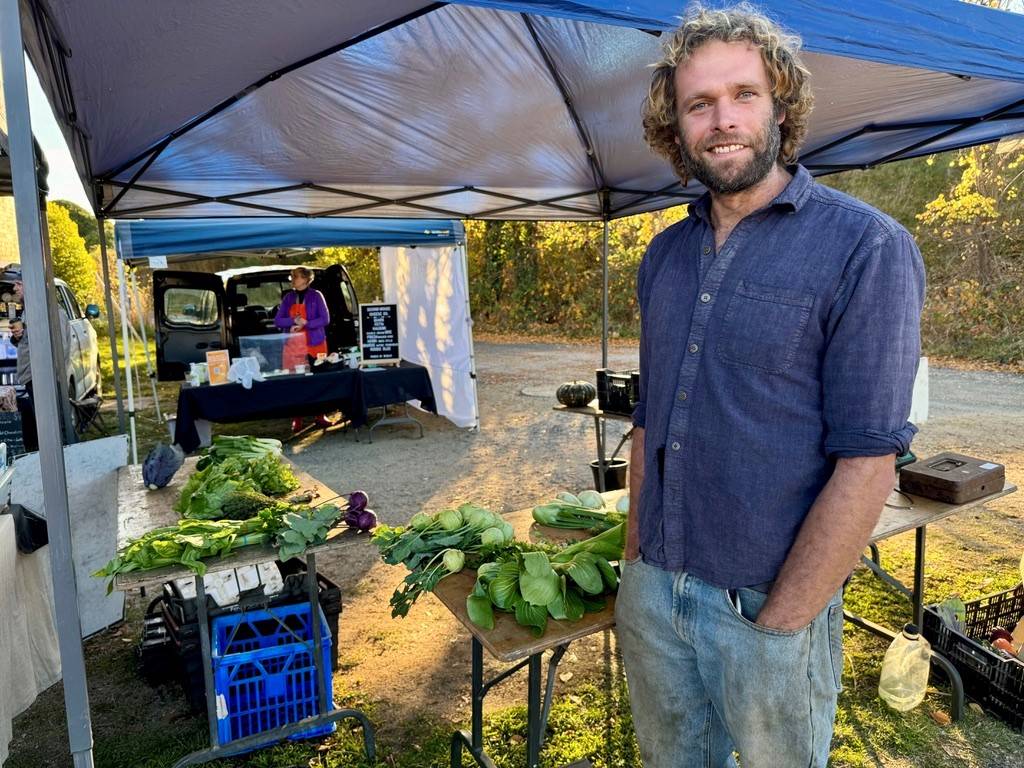
[[[420,400],[424,410],[437,413],[430,374],[423,366],[408,360],[397,368],[279,376],[253,382],[252,389],[241,384],[182,386],[174,441],[186,453],[198,449],[197,419],[228,423],[341,411],[358,427],[367,423],[369,409],[406,400]]]

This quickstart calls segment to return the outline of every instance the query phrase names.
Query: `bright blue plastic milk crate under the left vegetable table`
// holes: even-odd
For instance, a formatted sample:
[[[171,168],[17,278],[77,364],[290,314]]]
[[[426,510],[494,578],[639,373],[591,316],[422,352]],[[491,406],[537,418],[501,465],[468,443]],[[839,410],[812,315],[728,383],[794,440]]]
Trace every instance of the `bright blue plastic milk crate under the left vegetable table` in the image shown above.
[[[331,631],[319,606],[316,615],[328,700],[332,701]],[[311,618],[309,604],[297,603],[213,620],[213,680],[221,744],[318,713],[316,668],[309,652]],[[329,723],[292,738],[327,735],[336,727]]]

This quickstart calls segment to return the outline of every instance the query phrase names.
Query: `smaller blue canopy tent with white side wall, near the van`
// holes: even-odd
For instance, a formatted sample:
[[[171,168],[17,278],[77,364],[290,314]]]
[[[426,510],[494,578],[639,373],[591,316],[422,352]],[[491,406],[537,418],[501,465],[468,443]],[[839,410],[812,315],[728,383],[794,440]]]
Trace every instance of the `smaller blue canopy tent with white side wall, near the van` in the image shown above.
[[[479,427],[476,402],[476,370],[473,355],[472,319],[469,307],[466,231],[461,221],[441,219],[304,219],[224,218],[155,219],[118,221],[114,236],[122,275],[121,304],[127,306],[128,281],[125,264],[153,263],[162,257],[180,263],[214,255],[275,256],[282,249],[366,246],[381,248],[381,272],[385,301],[404,307],[398,318],[403,356],[425,366],[434,384],[438,414],[460,427]],[[406,258],[398,258],[397,249]],[[411,254],[415,256],[410,257]],[[427,294],[418,290],[425,272],[436,278],[444,290]],[[134,274],[131,286],[138,305]],[[134,393],[132,390],[127,312],[122,312],[122,343],[127,373],[129,431],[134,451]],[[412,323],[410,317],[430,317]],[[443,328],[438,334],[437,329]],[[153,396],[160,417],[159,395],[145,328],[139,322]]]

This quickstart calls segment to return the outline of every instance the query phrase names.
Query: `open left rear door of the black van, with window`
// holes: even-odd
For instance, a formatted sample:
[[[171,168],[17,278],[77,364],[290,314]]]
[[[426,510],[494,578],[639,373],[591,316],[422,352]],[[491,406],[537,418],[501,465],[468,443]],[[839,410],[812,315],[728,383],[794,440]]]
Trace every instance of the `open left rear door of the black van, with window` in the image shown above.
[[[157,378],[183,379],[189,362],[205,362],[211,349],[224,349],[224,283],[208,272],[153,272],[157,323]]]

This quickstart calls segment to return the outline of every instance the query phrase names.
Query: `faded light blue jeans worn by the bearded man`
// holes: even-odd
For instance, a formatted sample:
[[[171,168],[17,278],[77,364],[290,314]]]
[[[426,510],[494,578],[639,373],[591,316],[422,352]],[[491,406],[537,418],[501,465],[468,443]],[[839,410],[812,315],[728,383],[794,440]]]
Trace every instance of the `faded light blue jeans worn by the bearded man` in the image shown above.
[[[738,595],[740,609],[734,600]],[[636,560],[615,601],[644,768],[824,768],[843,672],[843,593],[796,632],[767,595]]]

